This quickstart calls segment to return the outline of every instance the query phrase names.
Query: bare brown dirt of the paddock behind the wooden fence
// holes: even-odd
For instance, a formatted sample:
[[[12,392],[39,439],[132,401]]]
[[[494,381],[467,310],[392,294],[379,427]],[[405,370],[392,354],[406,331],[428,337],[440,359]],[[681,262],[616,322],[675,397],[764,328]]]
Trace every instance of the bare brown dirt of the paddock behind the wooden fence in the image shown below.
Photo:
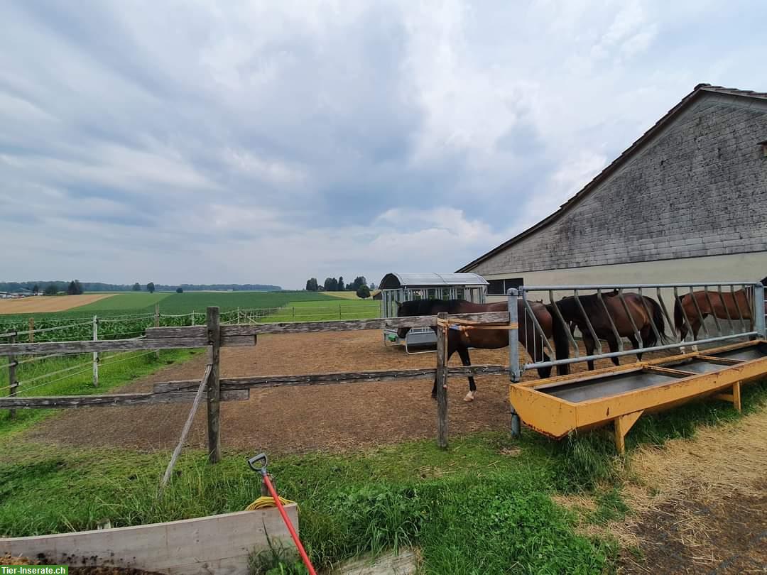
[[[472,363],[508,364],[508,353],[508,348],[472,350]],[[434,353],[407,355],[401,347],[384,347],[380,330],[369,330],[260,336],[255,347],[223,348],[221,370],[224,377],[236,377],[433,367],[435,362]],[[450,363],[460,365],[457,353]],[[597,362],[597,367],[601,365]],[[156,382],[196,380],[204,370],[205,358],[200,355],[120,391],[149,391]],[[450,435],[509,429],[508,377],[481,376],[476,384],[476,400],[466,403],[468,382],[450,379]],[[224,449],[285,453],[433,438],[432,385],[433,380],[411,380],[252,389],[249,401],[222,403],[222,444]],[[77,409],[35,426],[30,435],[67,445],[166,449],[178,441],[188,413],[188,403]],[[205,425],[205,409],[199,409],[189,445],[205,447]]]

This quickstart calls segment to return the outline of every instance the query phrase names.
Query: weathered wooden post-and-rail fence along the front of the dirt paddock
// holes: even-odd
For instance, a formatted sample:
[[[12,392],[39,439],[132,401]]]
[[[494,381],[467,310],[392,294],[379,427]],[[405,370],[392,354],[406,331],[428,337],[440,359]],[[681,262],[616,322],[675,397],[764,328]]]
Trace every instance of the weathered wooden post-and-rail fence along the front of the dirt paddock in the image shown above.
[[[393,317],[377,320],[311,321],[300,324],[241,324],[220,323],[218,307],[209,307],[206,325],[187,327],[149,327],[146,336],[133,340],[81,340],[44,343],[0,343],[0,357],[19,355],[44,355],[49,353],[98,353],[102,351],[170,350],[184,348],[207,348],[208,366],[206,399],[208,411],[209,460],[221,458],[221,433],[219,404],[222,401],[249,399],[250,389],[277,386],[312,386],[333,383],[369,383],[395,380],[413,380],[435,377],[437,380],[437,443],[447,447],[447,379],[449,376],[509,373],[509,366],[476,365],[448,367],[445,357],[446,333],[437,333],[436,366],[434,369],[380,370],[343,373],[313,373],[306,375],[277,375],[221,378],[219,376],[220,348],[227,346],[255,345],[259,334],[306,334],[314,332],[383,330],[400,327],[434,327],[447,314],[439,316]],[[507,312],[482,314],[455,314],[450,320],[476,323],[508,324]],[[156,383],[151,392],[110,393],[87,396],[16,396],[0,397],[0,409],[33,409],[95,406],[135,406],[147,403],[193,402],[200,387],[200,380]]]

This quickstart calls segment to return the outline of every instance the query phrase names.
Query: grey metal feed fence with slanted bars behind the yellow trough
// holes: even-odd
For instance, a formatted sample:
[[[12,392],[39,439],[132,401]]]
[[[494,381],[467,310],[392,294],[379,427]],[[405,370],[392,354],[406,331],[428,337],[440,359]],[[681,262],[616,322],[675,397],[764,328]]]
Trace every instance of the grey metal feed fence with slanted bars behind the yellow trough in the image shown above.
[[[592,369],[594,360],[744,337],[767,337],[764,286],[755,281],[534,285],[512,288],[508,296],[512,323],[518,323],[518,328],[509,334],[512,381],[519,381],[529,369],[582,361]],[[555,350],[548,341],[551,334],[545,332],[533,313],[530,304],[534,301],[546,305],[552,326],[567,327],[566,358],[557,353],[557,359],[541,360],[546,350],[551,355],[555,355]],[[671,307],[667,301],[673,302]],[[712,325],[706,324],[708,317],[713,318]],[[586,345],[585,355],[574,337],[576,328]],[[532,337],[535,342],[532,361],[527,363],[519,356],[520,336],[528,342]],[[632,349],[624,347],[624,338],[630,340]],[[602,341],[609,343],[609,351],[604,350]],[[560,341],[560,348],[562,345]]]

